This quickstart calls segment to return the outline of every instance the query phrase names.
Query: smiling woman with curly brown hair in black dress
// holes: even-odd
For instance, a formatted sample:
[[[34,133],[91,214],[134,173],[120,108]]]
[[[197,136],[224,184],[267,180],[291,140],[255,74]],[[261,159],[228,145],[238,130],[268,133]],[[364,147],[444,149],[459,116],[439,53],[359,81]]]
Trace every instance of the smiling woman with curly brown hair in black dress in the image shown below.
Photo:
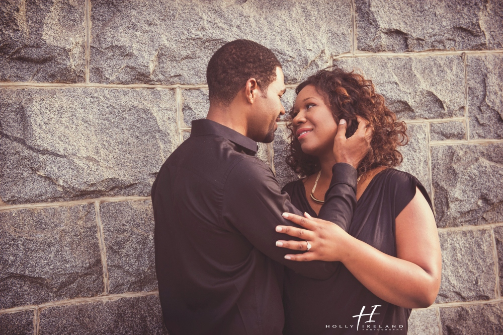
[[[405,123],[396,121],[370,80],[338,68],[311,76],[296,93],[287,163],[306,177],[283,190],[307,219],[284,216],[306,229],[278,226],[276,230],[306,242],[285,239],[277,245],[309,248],[287,255],[292,261],[340,263],[324,281],[286,269],[284,334],[406,333],[411,308],[425,308],[435,301],[441,254],[428,193],[415,177],[393,169],[402,161],[396,147],[407,142]],[[336,163],[337,125],[340,119],[347,120],[349,137],[360,117],[373,128],[373,137],[357,168],[358,206],[346,232],[316,216]]]

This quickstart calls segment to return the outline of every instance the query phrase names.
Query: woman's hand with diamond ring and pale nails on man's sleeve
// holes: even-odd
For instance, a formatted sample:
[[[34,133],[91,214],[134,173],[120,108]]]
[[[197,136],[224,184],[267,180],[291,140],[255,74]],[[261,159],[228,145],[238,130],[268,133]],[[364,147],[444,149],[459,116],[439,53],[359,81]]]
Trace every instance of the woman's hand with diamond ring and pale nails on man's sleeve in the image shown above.
[[[348,248],[345,247],[346,241],[353,237],[334,223],[315,219],[307,213],[304,213],[304,216],[305,218],[291,213],[283,213],[285,219],[308,230],[290,226],[276,226],[277,232],[309,241],[311,245],[307,251],[306,241],[276,241],[276,245],[279,247],[306,251],[299,254],[287,254],[285,258],[298,261],[343,260],[348,251]]]

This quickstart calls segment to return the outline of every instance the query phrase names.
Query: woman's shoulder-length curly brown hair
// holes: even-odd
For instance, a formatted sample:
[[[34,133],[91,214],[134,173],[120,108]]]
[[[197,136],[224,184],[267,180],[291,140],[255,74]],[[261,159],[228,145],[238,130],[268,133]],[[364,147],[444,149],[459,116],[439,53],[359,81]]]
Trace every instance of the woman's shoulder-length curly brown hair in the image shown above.
[[[383,96],[375,92],[371,80],[366,80],[354,71],[345,72],[334,65],[307,78],[297,86],[295,93],[298,95],[307,85],[313,85],[323,96],[337,124],[341,118],[348,122],[347,136],[352,135],[358,127],[357,115],[369,121],[369,126],[373,128],[370,150],[358,166],[358,175],[378,166],[395,167],[402,162],[402,155],[396,147],[407,144],[407,125],[396,120],[396,115],[386,107]],[[293,107],[290,110],[292,116]],[[318,158],[302,152],[300,142],[293,133],[291,120],[287,128],[290,130],[290,154],[286,157],[286,163],[302,176],[318,172]]]

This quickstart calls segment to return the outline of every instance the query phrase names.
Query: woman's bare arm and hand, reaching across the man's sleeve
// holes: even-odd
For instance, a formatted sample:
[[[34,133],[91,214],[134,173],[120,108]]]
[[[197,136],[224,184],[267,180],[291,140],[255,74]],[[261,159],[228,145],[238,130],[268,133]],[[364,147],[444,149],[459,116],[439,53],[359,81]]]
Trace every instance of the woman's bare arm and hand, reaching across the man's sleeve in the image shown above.
[[[440,242],[431,208],[417,188],[414,198],[395,220],[397,257],[352,237],[330,222],[293,214],[286,218],[309,230],[286,226],[276,230],[308,240],[312,247],[309,252],[285,257],[298,261],[342,261],[367,289],[397,306],[425,308],[435,301],[442,269]],[[306,250],[307,243],[278,241],[276,245]]]

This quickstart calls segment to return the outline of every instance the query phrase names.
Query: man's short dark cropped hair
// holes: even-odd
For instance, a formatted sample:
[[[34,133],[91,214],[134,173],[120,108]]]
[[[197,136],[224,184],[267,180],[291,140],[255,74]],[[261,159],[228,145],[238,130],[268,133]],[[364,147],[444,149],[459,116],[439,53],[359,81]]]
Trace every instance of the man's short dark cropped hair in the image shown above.
[[[262,93],[276,79],[276,67],[281,63],[265,46],[250,40],[235,40],[218,49],[208,63],[210,102],[229,105],[246,81],[255,78]]]

